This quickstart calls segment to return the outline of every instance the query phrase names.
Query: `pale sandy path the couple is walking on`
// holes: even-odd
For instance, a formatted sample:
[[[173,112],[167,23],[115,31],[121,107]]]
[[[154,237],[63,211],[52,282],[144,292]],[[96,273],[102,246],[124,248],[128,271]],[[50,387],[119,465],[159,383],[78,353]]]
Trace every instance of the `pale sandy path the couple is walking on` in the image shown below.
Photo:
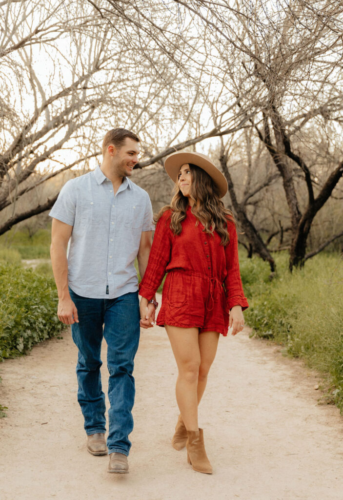
[[[6,360],[0,499],[342,500],[338,409],[318,404],[315,373],[248,333],[220,338],[200,405],[213,475],[193,471],[170,444],[176,364],[164,329],[142,330],[127,475],[108,474],[108,457],[86,450],[68,331]],[[105,366],[102,377],[106,391]]]

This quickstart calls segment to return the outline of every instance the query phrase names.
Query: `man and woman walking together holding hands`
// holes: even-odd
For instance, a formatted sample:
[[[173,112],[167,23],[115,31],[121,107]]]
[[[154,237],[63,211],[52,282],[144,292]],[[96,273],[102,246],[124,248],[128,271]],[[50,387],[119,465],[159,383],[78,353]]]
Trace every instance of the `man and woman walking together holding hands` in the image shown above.
[[[139,138],[133,132],[108,131],[101,165],[67,181],[50,211],[57,314],[71,325],[78,347],[77,397],[87,449],[109,454],[108,472],[128,472],[133,361],[140,326],[155,322],[155,293],[167,274],[156,323],[165,327],[178,366],[180,414],[172,445],[178,450],[186,446],[193,469],[211,474],[198,404],[220,334],[226,336],[229,327],[233,335],[241,331],[242,311],[248,307],[235,220],[221,201],[227,181],[204,154],[169,155],[164,166],[175,182],[174,196],[155,216],[155,228],[148,194],[129,179],[138,154]],[[103,337],[109,370],[107,446],[100,377]]]

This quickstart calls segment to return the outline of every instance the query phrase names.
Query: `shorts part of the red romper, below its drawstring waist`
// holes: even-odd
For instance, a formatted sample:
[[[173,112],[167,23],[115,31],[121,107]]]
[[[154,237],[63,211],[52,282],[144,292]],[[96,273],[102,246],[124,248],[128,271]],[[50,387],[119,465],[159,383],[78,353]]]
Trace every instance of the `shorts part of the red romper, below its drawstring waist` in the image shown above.
[[[182,269],[167,273],[162,291],[162,305],[156,323],[198,327],[203,331],[228,334],[229,310],[223,283],[217,278]]]

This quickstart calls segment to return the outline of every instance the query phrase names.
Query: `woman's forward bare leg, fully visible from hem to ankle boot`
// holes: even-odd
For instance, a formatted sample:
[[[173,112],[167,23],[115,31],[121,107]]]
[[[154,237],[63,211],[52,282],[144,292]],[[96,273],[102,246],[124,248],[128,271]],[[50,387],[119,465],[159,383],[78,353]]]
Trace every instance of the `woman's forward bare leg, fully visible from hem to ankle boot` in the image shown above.
[[[176,401],[187,430],[198,430],[199,329],[165,325],[179,374]]]

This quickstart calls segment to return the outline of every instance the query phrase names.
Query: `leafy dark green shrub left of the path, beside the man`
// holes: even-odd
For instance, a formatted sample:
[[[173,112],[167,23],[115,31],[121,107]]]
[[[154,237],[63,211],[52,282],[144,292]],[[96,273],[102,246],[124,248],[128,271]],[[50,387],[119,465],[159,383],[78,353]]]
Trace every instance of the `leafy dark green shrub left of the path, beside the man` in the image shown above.
[[[53,279],[31,269],[0,265],[0,360],[25,353],[59,335],[57,290]]]

